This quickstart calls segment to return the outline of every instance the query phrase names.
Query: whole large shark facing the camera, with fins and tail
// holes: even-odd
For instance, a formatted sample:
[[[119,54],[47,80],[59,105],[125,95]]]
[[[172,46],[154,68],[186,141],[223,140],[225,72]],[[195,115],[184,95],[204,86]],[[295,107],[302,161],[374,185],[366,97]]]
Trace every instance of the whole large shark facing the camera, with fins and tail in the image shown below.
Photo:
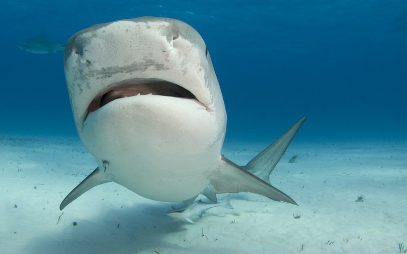
[[[64,68],[78,134],[98,167],[61,210],[110,181],[164,202],[251,192],[296,204],[269,175],[305,117],[245,167],[227,160],[222,93],[188,24],[141,17],[91,26],[68,41]]]

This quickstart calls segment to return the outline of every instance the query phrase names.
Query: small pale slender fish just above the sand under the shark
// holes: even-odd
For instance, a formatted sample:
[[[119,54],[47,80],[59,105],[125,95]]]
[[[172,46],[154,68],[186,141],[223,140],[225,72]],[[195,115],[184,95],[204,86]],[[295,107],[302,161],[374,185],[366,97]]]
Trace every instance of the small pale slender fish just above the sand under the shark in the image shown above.
[[[199,217],[202,217],[202,213],[209,210],[209,209],[211,209],[211,208],[219,206],[219,207],[224,207],[224,208],[228,208],[228,209],[234,209],[230,205],[229,196],[224,198],[223,201],[220,202],[220,203],[205,203],[205,202],[202,202],[202,200],[198,200],[198,201],[194,202],[192,205],[190,205],[188,207],[173,209],[173,210],[169,211],[167,213],[167,215],[170,216],[170,217],[173,217],[173,218],[185,219],[189,223],[195,224],[192,221],[191,217],[193,215],[197,215]]]

